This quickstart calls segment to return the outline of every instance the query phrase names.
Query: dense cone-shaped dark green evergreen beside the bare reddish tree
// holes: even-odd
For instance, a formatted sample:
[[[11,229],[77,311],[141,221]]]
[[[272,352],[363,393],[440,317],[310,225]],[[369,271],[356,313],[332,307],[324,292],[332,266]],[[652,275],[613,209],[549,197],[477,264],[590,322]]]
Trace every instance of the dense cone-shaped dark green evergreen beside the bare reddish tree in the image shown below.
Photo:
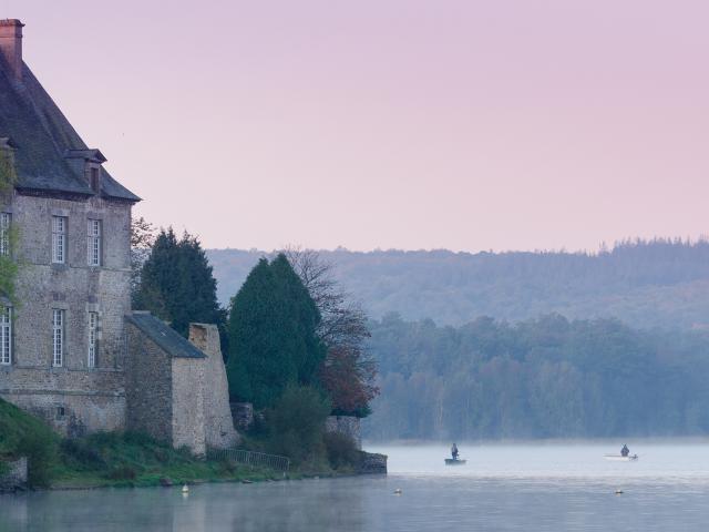
[[[271,406],[288,385],[317,382],[325,346],[315,303],[284,255],[265,258],[232,300],[227,375],[230,395]]]

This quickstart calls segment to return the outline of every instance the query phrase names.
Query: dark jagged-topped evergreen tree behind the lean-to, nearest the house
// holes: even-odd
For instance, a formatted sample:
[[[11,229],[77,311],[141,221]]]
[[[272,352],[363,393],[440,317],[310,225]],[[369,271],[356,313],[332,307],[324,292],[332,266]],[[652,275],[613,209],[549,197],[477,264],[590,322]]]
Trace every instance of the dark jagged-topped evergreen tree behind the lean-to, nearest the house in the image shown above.
[[[186,337],[193,321],[223,327],[216,287],[199,241],[186,232],[178,241],[171,227],[155,238],[141,270],[134,307],[169,321]]]

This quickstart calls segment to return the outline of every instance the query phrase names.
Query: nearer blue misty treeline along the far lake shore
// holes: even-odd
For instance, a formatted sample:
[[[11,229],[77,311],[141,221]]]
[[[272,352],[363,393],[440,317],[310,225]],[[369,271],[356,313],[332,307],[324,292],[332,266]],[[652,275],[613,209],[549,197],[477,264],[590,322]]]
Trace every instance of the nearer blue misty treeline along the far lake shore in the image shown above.
[[[370,324],[381,395],[372,440],[709,432],[709,334],[547,315],[461,327]]]

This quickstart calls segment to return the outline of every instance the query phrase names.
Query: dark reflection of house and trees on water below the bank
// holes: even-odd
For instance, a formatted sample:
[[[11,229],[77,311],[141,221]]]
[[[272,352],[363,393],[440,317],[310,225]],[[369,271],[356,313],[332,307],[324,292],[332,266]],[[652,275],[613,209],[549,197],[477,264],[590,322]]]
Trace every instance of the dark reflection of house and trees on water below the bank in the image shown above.
[[[173,489],[51,491],[0,497],[0,532],[363,530],[350,479]]]

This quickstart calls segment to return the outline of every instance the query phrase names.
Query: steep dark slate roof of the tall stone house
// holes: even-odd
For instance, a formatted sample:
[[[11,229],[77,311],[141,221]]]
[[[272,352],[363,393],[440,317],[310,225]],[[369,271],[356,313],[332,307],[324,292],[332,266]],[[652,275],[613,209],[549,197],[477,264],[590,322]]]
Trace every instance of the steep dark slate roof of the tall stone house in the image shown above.
[[[86,180],[71,167],[70,153],[89,150],[27,64],[22,80],[14,80],[0,57],[0,137],[9,137],[14,151],[17,188],[28,193],[65,193],[92,196]],[[79,152],[74,152],[79,151]],[[141,198],[101,168],[101,195],[130,202]]]

